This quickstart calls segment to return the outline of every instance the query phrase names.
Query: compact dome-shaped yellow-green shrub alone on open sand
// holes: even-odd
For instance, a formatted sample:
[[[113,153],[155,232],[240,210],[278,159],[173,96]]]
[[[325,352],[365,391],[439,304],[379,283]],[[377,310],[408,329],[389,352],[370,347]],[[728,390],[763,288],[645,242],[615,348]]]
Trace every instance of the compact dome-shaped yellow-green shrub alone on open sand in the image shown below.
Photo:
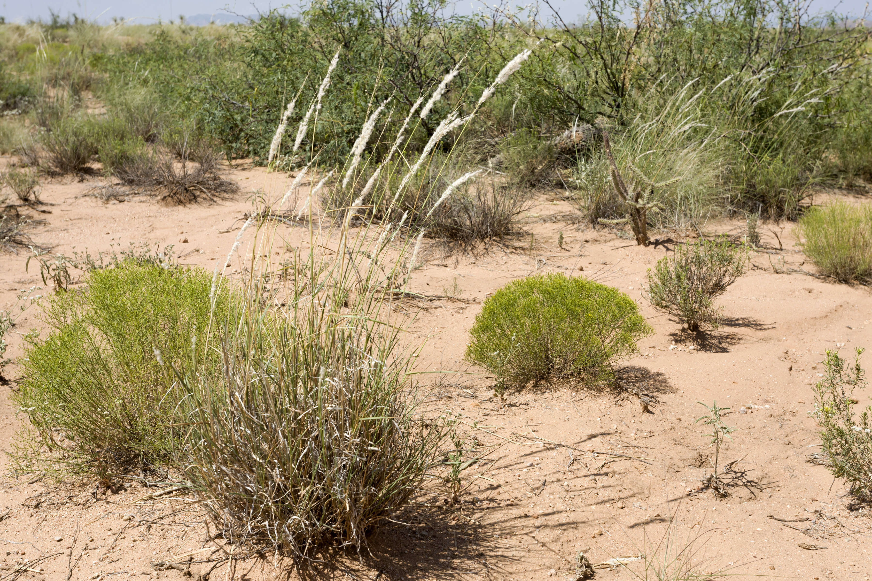
[[[607,372],[653,333],[635,302],[615,288],[562,274],[514,280],[485,301],[467,360],[498,384]]]

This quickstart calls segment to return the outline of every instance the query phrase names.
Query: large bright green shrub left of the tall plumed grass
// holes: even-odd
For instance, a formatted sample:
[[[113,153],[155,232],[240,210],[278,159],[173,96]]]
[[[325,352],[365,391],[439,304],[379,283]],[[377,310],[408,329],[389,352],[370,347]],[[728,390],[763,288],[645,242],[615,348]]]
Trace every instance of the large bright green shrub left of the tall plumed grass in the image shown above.
[[[44,297],[48,334],[28,337],[13,395],[31,442],[48,449],[36,457],[101,474],[167,461],[183,433],[173,425],[184,395],[169,364],[186,368],[206,344],[210,284],[199,268],[126,259],[92,270],[81,290]],[[227,301],[218,295],[215,321]],[[205,358],[203,367],[220,368],[211,351]]]

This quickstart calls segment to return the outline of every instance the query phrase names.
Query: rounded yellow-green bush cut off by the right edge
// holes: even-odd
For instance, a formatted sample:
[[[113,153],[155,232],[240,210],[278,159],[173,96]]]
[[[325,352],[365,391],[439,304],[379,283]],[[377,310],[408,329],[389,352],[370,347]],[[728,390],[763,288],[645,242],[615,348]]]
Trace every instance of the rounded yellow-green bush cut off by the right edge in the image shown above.
[[[872,279],[872,205],[812,208],[798,226],[802,251],[821,274],[841,282]]]

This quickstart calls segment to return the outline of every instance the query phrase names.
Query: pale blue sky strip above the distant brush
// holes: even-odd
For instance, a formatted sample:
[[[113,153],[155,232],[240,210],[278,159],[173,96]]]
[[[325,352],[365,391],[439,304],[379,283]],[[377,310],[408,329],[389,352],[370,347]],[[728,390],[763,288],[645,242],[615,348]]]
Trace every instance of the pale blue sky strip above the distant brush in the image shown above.
[[[7,22],[24,22],[39,17],[47,19],[51,8],[62,17],[74,12],[89,19],[99,17],[103,23],[112,17],[135,18],[137,22],[148,23],[158,18],[174,20],[180,14],[215,14],[227,9],[237,14],[253,14],[286,3],[281,0],[0,0],[0,16]],[[487,3],[492,4],[494,0]],[[554,4],[568,20],[576,20],[586,11],[586,3],[580,0],[554,0]],[[481,6],[480,2],[463,0],[456,3],[456,10],[468,14]],[[835,9],[852,17],[861,16],[865,6],[866,0],[812,0],[813,10]]]

